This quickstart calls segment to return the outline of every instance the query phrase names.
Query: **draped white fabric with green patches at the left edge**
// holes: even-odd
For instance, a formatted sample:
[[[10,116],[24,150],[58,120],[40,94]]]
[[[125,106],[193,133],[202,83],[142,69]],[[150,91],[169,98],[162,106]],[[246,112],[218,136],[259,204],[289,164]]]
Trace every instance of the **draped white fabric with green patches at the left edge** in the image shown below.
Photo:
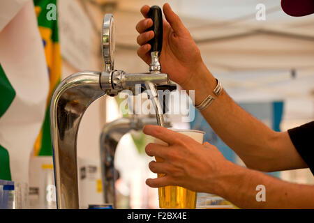
[[[0,179],[27,183],[52,76],[33,1],[0,1],[0,15]]]

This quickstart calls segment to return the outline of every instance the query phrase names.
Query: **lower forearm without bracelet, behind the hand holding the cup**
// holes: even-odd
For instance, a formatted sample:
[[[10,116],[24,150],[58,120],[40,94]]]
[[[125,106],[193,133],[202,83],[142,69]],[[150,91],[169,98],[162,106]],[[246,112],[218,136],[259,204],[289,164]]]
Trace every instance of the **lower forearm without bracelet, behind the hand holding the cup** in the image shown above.
[[[239,208],[314,208],[313,185],[288,183],[231,162],[227,166],[215,193]],[[264,186],[265,201],[257,201],[262,198],[257,185]]]

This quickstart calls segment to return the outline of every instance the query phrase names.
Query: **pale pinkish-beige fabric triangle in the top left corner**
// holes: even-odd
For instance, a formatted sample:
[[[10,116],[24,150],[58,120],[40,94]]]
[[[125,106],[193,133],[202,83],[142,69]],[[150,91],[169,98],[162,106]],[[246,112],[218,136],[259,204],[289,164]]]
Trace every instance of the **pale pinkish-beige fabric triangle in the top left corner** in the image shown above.
[[[17,15],[29,0],[1,0],[0,1],[0,32]]]

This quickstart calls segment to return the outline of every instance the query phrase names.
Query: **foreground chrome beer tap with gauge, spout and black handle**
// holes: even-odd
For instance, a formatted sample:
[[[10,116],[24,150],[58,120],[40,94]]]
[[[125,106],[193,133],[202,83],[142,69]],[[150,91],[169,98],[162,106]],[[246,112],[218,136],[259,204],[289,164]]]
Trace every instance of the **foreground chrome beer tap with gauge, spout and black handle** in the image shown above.
[[[77,132],[87,107],[107,94],[117,95],[125,89],[135,92],[135,85],[150,90],[158,125],[164,125],[163,111],[157,89],[174,90],[168,75],[161,72],[159,54],[163,42],[163,19],[158,6],[152,6],[149,17],[154,22],[155,37],[151,41],[151,64],[147,73],[126,73],[114,70],[114,18],[106,14],[103,20],[103,60],[105,70],[83,71],[70,75],[57,86],[50,104],[50,128],[54,158],[54,179],[57,208],[79,208],[77,182]]]

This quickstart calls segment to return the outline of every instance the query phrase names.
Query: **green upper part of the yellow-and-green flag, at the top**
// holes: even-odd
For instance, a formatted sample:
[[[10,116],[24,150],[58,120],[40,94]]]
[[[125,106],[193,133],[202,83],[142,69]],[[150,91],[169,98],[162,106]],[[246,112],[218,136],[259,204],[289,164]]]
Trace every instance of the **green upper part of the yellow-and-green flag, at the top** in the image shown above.
[[[50,11],[52,8],[48,8],[47,6],[50,3],[53,3],[57,7],[57,0],[33,0],[35,6],[39,6],[41,11],[37,17],[38,26],[43,26],[46,28],[50,28],[52,30],[52,41],[54,43],[59,42],[59,30],[58,30],[58,22],[57,20],[47,20],[47,14],[50,15]],[[58,18],[58,10],[57,10]]]

